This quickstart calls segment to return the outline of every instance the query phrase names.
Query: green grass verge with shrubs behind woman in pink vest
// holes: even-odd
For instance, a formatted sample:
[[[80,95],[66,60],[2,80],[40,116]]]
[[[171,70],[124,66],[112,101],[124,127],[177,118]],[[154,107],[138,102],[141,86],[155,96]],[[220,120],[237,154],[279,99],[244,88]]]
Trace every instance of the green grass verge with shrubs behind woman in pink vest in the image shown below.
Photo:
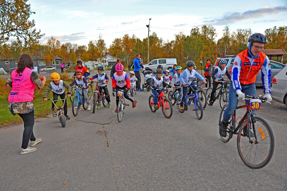
[[[23,122],[23,120],[21,119],[21,117],[19,117],[19,115],[13,116],[8,109],[8,95],[9,95],[12,88],[6,87],[6,85],[5,85],[6,81],[7,81],[7,79],[0,78],[0,113],[1,113],[0,128],[6,127],[6,126],[11,125],[11,124],[19,124],[19,123]],[[35,107],[35,118],[46,117],[47,115],[52,113],[52,111],[51,111],[52,102],[51,101],[43,101],[44,92],[45,92],[45,90],[48,87],[50,82],[51,82],[50,80],[47,80],[44,88],[42,88],[40,90],[38,90],[38,88],[35,88],[34,100],[33,100],[33,104]],[[68,80],[66,82],[71,83],[71,80]],[[67,94],[67,92],[66,92],[66,94]],[[53,99],[53,93],[52,92],[49,93],[48,98]],[[60,99],[60,97],[59,97],[59,99]],[[67,100],[68,100],[68,102],[67,102],[68,107],[72,106],[70,99],[68,98]],[[59,102],[57,102],[56,105],[62,106],[63,103],[62,103],[62,101],[59,101]],[[68,115],[69,115],[69,113],[68,113]]]

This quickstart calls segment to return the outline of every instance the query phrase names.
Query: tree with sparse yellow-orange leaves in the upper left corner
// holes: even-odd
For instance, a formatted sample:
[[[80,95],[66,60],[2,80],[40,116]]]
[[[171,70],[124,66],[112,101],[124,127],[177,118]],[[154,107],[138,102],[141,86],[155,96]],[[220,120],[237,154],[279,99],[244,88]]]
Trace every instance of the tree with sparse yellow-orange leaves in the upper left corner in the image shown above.
[[[34,20],[29,20],[35,12],[31,11],[27,2],[28,0],[1,0],[0,44],[7,42],[10,37],[24,39],[25,44],[33,44],[45,35],[34,28]]]

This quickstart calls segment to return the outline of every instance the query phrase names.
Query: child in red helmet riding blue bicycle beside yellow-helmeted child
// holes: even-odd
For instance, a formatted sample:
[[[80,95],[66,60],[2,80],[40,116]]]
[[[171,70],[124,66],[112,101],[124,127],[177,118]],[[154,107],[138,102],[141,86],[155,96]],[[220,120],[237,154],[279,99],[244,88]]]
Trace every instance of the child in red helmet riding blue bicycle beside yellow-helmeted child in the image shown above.
[[[84,92],[84,98],[87,102],[88,105],[88,111],[91,110],[91,104],[90,104],[90,100],[88,97],[88,84],[87,84],[87,80],[86,78],[83,76],[83,72],[81,70],[76,70],[76,77],[74,79],[74,81],[72,81],[72,83],[70,83],[70,86],[73,86],[74,84],[76,84],[76,86],[83,88],[83,89],[79,89],[79,93],[82,94],[82,90]]]

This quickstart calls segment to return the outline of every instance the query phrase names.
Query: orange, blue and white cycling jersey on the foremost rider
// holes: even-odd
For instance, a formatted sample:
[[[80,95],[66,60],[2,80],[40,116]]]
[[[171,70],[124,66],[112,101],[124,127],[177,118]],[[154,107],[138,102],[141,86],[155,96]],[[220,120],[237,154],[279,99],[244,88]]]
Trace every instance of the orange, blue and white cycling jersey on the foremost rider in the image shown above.
[[[250,58],[248,56],[248,49],[237,54],[232,67],[232,83],[235,91],[241,90],[240,84],[255,83],[259,70],[261,70],[264,93],[271,93],[271,67],[269,58],[263,52],[260,52],[255,58]]]

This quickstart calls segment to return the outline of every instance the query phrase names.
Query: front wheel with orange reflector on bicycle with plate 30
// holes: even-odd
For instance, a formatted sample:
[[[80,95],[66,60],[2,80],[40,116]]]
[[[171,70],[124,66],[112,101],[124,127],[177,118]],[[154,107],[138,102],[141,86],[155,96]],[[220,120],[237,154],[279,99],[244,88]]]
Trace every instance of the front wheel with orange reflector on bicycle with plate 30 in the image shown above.
[[[237,149],[241,160],[249,168],[262,168],[266,166],[272,158],[274,152],[274,136],[269,124],[260,117],[251,117],[251,131],[257,137],[249,137],[243,135],[243,127],[247,124],[245,121],[238,130]],[[249,125],[248,125],[249,126]]]

